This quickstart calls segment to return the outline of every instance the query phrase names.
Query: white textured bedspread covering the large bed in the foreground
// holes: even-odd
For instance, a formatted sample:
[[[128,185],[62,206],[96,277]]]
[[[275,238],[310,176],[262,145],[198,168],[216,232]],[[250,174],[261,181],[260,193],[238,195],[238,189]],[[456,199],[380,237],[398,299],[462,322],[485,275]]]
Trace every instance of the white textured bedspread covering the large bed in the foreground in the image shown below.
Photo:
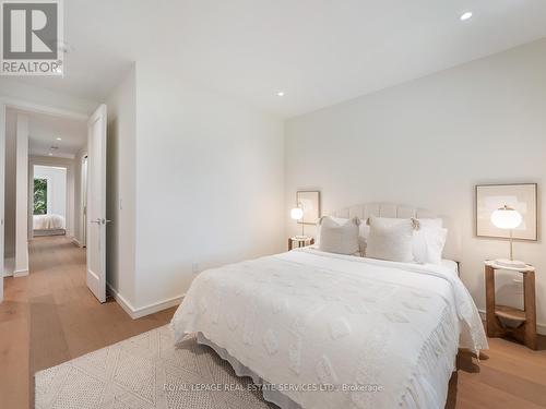
[[[487,348],[446,267],[310,249],[203,272],[173,328],[177,341],[203,333],[304,408],[443,408],[458,347]]]

